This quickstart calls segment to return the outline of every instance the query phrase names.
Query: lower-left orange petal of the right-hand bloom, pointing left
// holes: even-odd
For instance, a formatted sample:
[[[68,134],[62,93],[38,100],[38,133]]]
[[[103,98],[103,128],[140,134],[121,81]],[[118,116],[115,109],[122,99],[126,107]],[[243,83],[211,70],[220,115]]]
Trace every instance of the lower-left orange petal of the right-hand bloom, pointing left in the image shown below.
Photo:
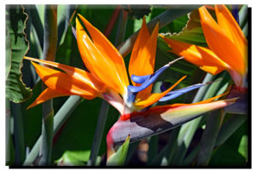
[[[163,36],[160,35],[160,37]],[[218,72],[224,71],[224,69],[230,69],[230,66],[223,60],[219,59],[211,49],[189,43],[183,43],[171,38],[163,37],[163,39],[172,49],[174,54],[183,56],[185,60],[188,60],[196,66],[200,66],[201,69],[206,72],[215,75]]]

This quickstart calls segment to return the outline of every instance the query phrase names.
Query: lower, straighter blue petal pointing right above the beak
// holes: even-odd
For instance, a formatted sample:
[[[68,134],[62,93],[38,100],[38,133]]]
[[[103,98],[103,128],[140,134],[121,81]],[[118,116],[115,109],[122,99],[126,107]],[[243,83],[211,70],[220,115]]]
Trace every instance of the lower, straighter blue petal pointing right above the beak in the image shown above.
[[[183,95],[185,93],[188,93],[189,91],[192,91],[194,89],[199,89],[202,86],[206,85],[207,83],[197,83],[194,85],[190,85],[189,87],[183,88],[183,89],[177,89],[174,91],[170,91],[167,93],[164,97],[162,97],[159,101],[167,101],[167,100],[172,100],[180,95]]]

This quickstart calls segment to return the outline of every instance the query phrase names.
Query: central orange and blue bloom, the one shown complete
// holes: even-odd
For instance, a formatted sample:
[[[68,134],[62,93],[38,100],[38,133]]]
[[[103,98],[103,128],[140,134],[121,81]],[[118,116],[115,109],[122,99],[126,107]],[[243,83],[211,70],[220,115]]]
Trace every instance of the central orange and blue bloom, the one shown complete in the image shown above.
[[[132,83],[130,84],[125,69],[125,62],[119,51],[88,20],[85,20],[81,15],[79,15],[79,18],[90,33],[89,37],[77,18],[76,37],[79,52],[89,72],[52,61],[24,57],[24,59],[32,61],[38,76],[41,77],[48,87],[44,89],[43,93],[38,96],[29,108],[59,96],[80,95],[87,100],[101,97],[119,111],[119,121],[127,121],[131,117],[145,114],[160,115],[164,113],[165,116],[172,116],[172,114],[201,114],[228,106],[236,100],[215,100],[223,96],[218,95],[192,104],[151,107],[158,101],[172,100],[205,84],[198,83],[187,88],[172,91],[185,78],[184,76],[177,83],[173,84],[171,88],[163,90],[161,93],[152,93],[152,85],[156,78],[171,66],[174,61],[154,72],[154,56],[159,25],[157,24],[154,27],[154,31],[150,34],[145,20],[143,20],[143,26],[138,33],[131,53],[128,69]],[[44,66],[38,65],[36,62],[44,64]],[[112,136],[114,129],[112,128],[108,132],[107,143],[109,149],[113,149]]]

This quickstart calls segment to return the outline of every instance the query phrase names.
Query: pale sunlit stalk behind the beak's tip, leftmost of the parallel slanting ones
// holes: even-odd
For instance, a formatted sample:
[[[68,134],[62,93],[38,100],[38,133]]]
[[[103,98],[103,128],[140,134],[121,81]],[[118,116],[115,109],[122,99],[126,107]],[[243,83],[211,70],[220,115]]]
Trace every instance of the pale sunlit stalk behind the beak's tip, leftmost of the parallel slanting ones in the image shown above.
[[[204,78],[202,83],[210,82],[210,81],[212,81],[213,78],[214,78],[214,76],[207,73],[207,75]],[[207,89],[208,89],[208,86],[201,87],[197,91],[195,98],[192,102],[195,103],[195,102],[198,102],[198,101],[204,99]],[[201,120],[202,120],[202,117],[195,118],[193,121],[183,124],[183,126],[180,129],[179,135],[177,137],[178,150],[177,150],[175,156],[169,160],[171,164],[180,165],[182,163],[183,158],[184,158],[186,152],[188,151],[190,142],[195,135],[195,131],[196,131],[196,129],[198,129],[199,124],[201,123]]]

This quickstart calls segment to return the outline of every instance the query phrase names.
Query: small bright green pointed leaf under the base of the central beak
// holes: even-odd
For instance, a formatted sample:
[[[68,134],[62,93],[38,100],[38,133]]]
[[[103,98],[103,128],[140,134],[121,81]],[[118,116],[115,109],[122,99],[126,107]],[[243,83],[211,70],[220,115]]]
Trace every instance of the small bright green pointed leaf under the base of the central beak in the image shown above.
[[[130,143],[130,136],[128,135],[128,137],[125,140],[125,143],[119,147],[119,150],[113,153],[113,155],[111,155],[108,158],[108,161],[107,161],[108,166],[121,166],[125,164],[125,158],[128,152],[129,143]]]

